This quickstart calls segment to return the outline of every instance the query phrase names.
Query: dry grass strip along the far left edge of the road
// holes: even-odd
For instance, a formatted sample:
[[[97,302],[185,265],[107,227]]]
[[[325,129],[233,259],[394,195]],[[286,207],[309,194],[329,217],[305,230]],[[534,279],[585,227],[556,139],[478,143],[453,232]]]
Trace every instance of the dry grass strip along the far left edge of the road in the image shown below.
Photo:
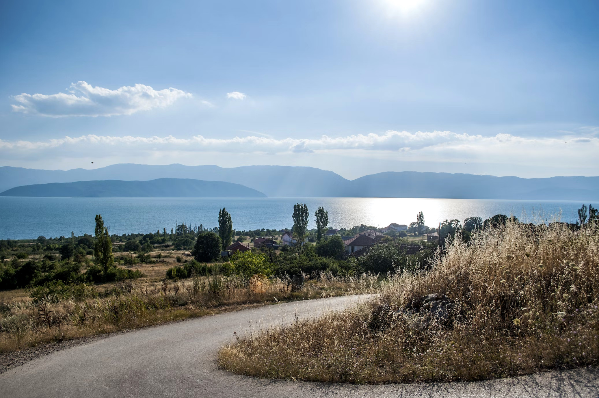
[[[162,265],[162,264],[161,264]],[[162,273],[164,275],[164,272]],[[78,285],[70,296],[36,302],[25,292],[0,295],[0,353],[42,343],[156,325],[247,306],[377,290],[377,278],[306,276],[301,289],[280,278],[214,275],[171,282],[155,278]]]

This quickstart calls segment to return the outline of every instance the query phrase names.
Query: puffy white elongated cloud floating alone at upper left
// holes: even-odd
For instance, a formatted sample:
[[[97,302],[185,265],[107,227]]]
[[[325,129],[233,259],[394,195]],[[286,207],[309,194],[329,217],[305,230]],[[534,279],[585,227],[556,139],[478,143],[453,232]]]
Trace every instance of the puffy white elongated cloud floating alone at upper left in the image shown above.
[[[19,94],[11,105],[14,111],[41,116],[116,116],[140,110],[164,108],[179,98],[192,95],[179,89],[156,91],[150,86],[123,86],[116,90],[93,87],[86,82],[72,83],[69,92],[51,95]]]

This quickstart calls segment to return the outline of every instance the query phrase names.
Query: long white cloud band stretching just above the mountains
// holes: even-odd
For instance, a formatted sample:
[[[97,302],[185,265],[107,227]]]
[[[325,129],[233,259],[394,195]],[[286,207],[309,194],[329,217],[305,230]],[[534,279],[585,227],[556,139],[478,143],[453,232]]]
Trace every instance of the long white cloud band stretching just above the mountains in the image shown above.
[[[0,140],[0,156],[5,161],[30,159],[81,158],[82,153],[105,154],[131,158],[169,156],[181,159],[198,158],[200,153],[222,153],[228,156],[277,155],[298,158],[302,153],[311,156],[341,155],[355,158],[355,162],[371,159],[424,162],[495,163],[522,167],[555,167],[558,164],[577,164],[599,171],[597,137],[528,138],[510,134],[491,137],[457,134],[451,131],[407,132],[386,131],[384,134],[358,134],[331,138],[323,135],[315,139],[247,137],[190,138],[167,137],[113,137],[82,135],[47,141]],[[204,156],[204,155],[199,155]],[[99,155],[98,155],[99,157]],[[5,163],[6,164],[6,163]],[[599,174],[599,173],[596,173]]]

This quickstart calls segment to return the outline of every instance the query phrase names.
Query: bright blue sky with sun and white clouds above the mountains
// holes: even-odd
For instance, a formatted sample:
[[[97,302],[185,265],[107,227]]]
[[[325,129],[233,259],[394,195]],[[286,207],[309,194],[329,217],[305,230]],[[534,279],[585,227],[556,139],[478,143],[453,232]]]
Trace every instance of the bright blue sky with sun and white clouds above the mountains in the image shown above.
[[[598,176],[598,18],[594,0],[0,2],[0,166]]]

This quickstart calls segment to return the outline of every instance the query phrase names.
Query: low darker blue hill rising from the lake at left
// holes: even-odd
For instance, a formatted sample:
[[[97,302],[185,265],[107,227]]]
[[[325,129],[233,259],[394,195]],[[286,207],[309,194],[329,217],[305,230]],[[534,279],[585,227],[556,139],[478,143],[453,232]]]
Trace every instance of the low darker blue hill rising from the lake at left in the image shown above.
[[[24,197],[173,197],[173,198],[263,198],[256,189],[222,181],[161,178],[149,181],[78,181],[53,182],[17,186],[0,193],[0,196]]]

